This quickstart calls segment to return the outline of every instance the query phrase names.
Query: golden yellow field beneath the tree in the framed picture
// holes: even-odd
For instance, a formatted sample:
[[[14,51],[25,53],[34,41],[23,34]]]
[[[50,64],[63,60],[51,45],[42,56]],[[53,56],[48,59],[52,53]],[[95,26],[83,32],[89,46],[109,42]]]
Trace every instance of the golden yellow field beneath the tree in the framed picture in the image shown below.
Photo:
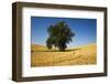
[[[65,52],[47,50],[46,46],[32,44],[31,66],[62,66],[62,65],[88,65],[97,63],[97,45],[68,49]]]

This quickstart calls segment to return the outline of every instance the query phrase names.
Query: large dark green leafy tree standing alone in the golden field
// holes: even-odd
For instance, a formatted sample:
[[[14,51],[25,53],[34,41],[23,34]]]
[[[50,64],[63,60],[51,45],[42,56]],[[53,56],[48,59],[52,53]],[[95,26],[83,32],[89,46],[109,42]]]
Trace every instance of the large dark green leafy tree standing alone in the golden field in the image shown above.
[[[72,32],[70,28],[66,24],[65,21],[61,21],[54,25],[50,25],[47,28],[48,38],[46,40],[46,46],[52,49],[53,45],[59,51],[65,51],[67,48],[67,43],[73,41],[73,36],[75,35]]]

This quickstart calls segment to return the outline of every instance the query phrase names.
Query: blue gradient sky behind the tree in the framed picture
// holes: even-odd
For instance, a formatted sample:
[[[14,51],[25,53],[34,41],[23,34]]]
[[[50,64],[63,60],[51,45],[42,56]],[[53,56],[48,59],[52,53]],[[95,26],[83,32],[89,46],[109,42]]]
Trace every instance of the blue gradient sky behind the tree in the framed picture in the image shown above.
[[[76,34],[68,48],[97,42],[97,19],[31,17],[31,43],[46,45],[47,28],[59,21],[65,21]]]

